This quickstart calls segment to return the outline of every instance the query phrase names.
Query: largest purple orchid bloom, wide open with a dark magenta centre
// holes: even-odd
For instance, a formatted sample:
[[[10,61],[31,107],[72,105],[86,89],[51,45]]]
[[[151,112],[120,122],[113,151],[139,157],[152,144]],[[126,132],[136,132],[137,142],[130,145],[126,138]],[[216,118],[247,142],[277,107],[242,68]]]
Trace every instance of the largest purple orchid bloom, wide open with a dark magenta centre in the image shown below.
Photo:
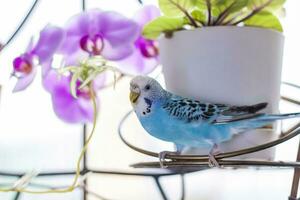
[[[134,21],[117,12],[94,9],[71,18],[65,30],[63,54],[101,55],[108,60],[120,60],[133,52],[139,29]]]

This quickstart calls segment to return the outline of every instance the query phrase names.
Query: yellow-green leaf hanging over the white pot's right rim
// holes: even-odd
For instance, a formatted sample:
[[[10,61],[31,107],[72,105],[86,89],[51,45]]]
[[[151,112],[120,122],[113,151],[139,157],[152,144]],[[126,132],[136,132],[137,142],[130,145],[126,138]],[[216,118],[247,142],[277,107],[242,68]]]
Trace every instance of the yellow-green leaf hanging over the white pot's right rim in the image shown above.
[[[282,32],[282,26],[278,18],[268,11],[262,11],[244,21],[246,26],[274,29]]]

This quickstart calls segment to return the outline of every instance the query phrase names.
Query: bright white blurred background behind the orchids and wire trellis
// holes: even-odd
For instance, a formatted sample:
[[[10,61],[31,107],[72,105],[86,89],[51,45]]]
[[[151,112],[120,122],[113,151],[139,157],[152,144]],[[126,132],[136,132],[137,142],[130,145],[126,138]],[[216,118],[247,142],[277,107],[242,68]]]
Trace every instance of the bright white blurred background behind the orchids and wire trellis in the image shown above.
[[[0,41],[5,42],[31,6],[30,0],[0,0]],[[135,0],[90,0],[88,8],[98,7],[117,10],[130,17],[139,4]],[[286,17],[283,19],[286,36],[283,65],[283,80],[300,84],[300,1],[288,0]],[[24,92],[12,94],[14,79],[9,79],[12,59],[22,53],[32,35],[37,35],[47,23],[63,25],[73,14],[79,12],[79,0],[41,0],[28,23],[11,45],[0,54],[0,84],[3,86],[0,103],[0,170],[30,171],[32,169],[63,170],[74,169],[80,149],[81,125],[69,125],[56,118],[51,100],[41,87],[40,77]],[[149,160],[130,151],[117,136],[117,125],[121,117],[130,109],[128,102],[128,81],[120,81],[116,90],[100,92],[101,114],[96,137],[90,148],[91,167],[129,169],[128,165]],[[287,91],[286,88],[284,88]],[[298,91],[290,91],[296,96]],[[284,112],[300,109],[283,102]],[[141,130],[132,119],[127,131]],[[142,131],[140,131],[142,132]],[[141,138],[136,138],[141,137]],[[147,140],[143,138],[147,138]],[[154,139],[149,136],[134,136],[132,141],[140,146],[154,148]],[[150,141],[150,142],[147,142]],[[158,142],[158,141],[155,141]],[[298,138],[278,148],[278,159],[295,158]],[[170,145],[167,145],[170,147]],[[154,150],[162,150],[156,147]],[[188,199],[220,200],[282,200],[290,192],[292,170],[209,170],[188,175]],[[5,182],[0,177],[0,183]],[[7,180],[11,181],[11,180]],[[41,179],[37,180],[41,181]],[[68,184],[70,179],[52,179],[55,184]],[[168,195],[172,199],[179,196],[179,179],[164,179]],[[95,176],[90,181],[91,190],[112,199],[159,199],[151,179]],[[13,194],[0,194],[0,199],[9,200]],[[32,196],[23,199],[77,200],[78,192],[66,195]]]

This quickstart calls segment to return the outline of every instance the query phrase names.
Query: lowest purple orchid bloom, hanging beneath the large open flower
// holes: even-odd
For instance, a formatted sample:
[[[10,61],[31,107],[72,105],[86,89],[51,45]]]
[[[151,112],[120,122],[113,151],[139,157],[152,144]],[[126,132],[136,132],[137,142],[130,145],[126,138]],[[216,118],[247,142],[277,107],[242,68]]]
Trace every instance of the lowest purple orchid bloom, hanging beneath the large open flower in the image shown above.
[[[60,75],[55,70],[50,70],[43,79],[44,88],[51,94],[55,114],[67,123],[92,122],[94,110],[90,89],[77,89],[77,98],[74,98],[70,93],[70,82],[71,76]]]

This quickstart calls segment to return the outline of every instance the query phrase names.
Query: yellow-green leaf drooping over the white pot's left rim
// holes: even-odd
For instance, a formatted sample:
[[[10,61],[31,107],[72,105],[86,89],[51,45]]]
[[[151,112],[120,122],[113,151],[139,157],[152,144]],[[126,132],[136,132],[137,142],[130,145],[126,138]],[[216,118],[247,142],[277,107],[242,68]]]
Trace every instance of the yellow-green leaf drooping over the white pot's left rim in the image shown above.
[[[144,26],[143,35],[148,39],[156,39],[163,32],[170,32],[181,29],[185,24],[183,17],[161,16]]]

